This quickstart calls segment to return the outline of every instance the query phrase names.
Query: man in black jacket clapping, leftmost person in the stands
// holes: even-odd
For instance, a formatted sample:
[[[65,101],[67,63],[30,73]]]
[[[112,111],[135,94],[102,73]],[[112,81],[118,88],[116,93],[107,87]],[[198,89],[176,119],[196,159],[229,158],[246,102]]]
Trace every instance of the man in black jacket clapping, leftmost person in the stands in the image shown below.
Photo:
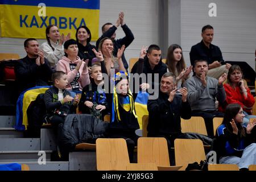
[[[19,93],[34,86],[48,85],[52,76],[52,69],[44,58],[43,51],[39,50],[38,41],[33,38],[26,39],[24,48],[27,56],[15,65]]]

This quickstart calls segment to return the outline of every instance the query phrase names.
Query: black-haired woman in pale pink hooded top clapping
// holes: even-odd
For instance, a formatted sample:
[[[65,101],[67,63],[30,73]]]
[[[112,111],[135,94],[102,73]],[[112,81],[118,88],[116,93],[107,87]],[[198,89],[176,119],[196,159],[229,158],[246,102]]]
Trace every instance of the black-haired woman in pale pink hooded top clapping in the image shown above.
[[[68,75],[67,89],[76,93],[80,93],[84,86],[90,84],[87,60],[81,60],[77,56],[78,51],[76,40],[68,40],[64,43],[65,56],[56,65],[57,71],[63,71]]]

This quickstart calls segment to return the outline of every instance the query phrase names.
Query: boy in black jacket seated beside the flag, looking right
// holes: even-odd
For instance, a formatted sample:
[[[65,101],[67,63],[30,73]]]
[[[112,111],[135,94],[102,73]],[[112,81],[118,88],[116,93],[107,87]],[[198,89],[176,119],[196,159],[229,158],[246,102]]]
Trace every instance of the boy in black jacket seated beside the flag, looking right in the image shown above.
[[[53,87],[46,90],[44,102],[49,122],[53,126],[64,123],[65,116],[76,111],[79,96],[71,97],[71,93],[66,90],[68,85],[67,75],[62,71],[52,73]]]

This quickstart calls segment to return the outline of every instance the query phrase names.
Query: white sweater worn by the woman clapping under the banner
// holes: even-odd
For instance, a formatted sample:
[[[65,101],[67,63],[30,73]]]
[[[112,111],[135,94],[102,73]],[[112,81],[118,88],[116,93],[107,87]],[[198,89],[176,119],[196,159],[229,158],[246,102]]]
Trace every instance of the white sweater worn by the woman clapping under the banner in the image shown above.
[[[51,45],[54,48],[54,51],[51,46],[49,46],[48,42],[41,44],[39,49],[44,51],[44,57],[49,61],[51,67],[55,68],[57,62],[64,56],[64,47],[60,46],[59,43],[54,43],[52,41]]]

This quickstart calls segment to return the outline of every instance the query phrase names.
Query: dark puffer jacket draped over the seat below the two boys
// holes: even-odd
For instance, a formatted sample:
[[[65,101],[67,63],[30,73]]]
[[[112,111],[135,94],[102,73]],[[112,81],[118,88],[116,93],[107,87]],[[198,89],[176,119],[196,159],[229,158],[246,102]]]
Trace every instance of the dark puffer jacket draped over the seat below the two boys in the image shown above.
[[[67,152],[79,143],[95,143],[97,138],[105,138],[108,124],[90,114],[68,114],[59,126],[59,146]]]

